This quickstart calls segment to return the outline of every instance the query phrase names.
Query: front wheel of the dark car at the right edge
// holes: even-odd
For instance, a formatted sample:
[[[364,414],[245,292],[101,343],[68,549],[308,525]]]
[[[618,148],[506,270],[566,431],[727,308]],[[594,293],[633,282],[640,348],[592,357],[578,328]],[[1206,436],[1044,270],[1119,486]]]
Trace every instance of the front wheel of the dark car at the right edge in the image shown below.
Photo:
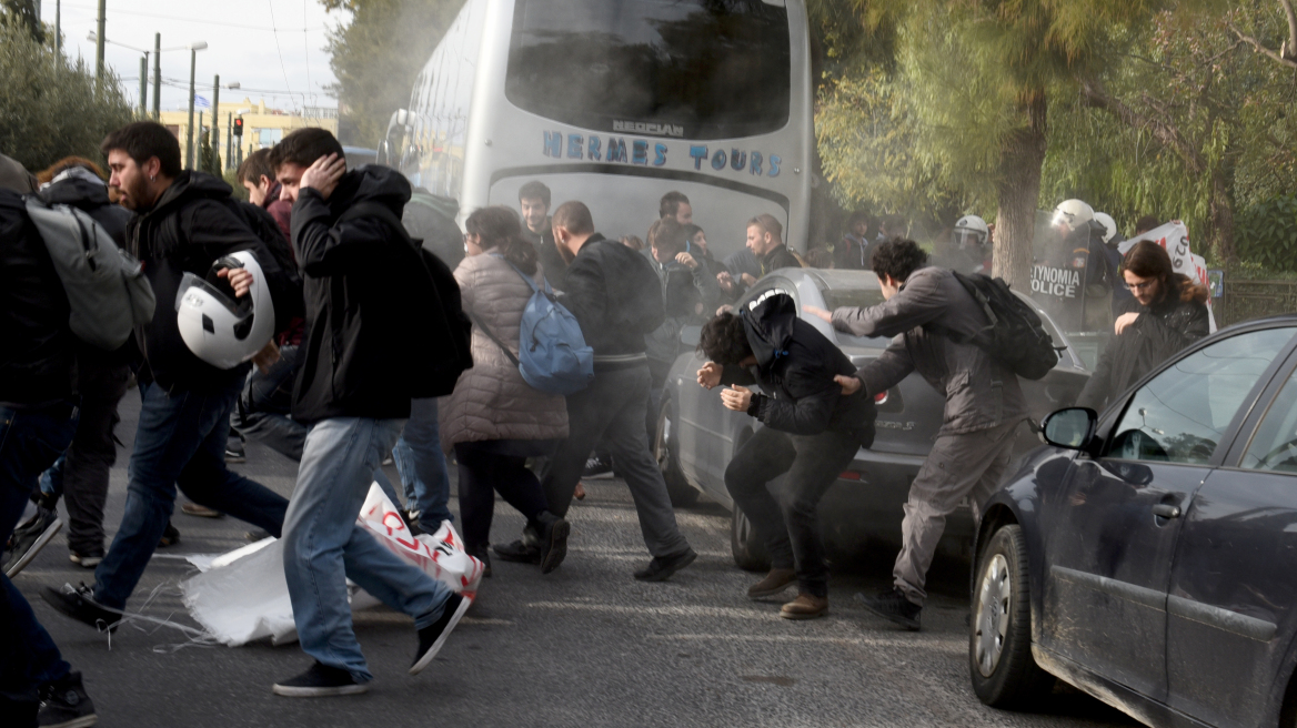
[[[973,692],[992,707],[1021,707],[1053,681],[1031,657],[1027,544],[1021,526],[1005,526],[991,536],[977,575],[969,631]]]

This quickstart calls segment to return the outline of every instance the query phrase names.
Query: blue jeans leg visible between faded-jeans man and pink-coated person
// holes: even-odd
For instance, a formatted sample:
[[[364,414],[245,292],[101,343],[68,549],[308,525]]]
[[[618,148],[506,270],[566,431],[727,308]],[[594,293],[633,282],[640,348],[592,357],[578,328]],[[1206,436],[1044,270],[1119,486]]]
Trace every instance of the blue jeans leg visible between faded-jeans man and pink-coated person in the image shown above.
[[[455,519],[446,505],[450,500],[450,473],[446,472],[446,456],[441,452],[436,399],[410,400],[410,418],[392,448],[392,459],[405,486],[406,508],[419,512],[424,531],[431,534],[442,521]]]

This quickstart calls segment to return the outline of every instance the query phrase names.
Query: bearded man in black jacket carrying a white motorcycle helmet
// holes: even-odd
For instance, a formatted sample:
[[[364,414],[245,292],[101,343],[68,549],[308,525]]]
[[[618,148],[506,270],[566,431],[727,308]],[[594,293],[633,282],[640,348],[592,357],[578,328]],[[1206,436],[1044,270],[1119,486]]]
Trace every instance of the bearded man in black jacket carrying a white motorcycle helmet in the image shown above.
[[[200,505],[228,513],[279,535],[288,501],[226,468],[230,412],[249,364],[218,369],[198,359],[180,337],[176,299],[182,277],[205,277],[213,262],[237,251],[256,255],[276,303],[291,302],[293,286],[275,256],[230,206],[230,185],[211,175],[180,170],[175,135],[154,122],[127,124],[104,140],[112,170],[109,185],[135,216],[127,249],[144,264],[158,306],[153,320],[136,328],[144,355],[140,422],[131,453],[126,513],[108,554],[95,570],[95,586],[45,587],[42,597],[86,624],[110,628],[121,617],[158,545],[175,506],[176,486]],[[252,273],[218,272],[236,297],[248,294]]]

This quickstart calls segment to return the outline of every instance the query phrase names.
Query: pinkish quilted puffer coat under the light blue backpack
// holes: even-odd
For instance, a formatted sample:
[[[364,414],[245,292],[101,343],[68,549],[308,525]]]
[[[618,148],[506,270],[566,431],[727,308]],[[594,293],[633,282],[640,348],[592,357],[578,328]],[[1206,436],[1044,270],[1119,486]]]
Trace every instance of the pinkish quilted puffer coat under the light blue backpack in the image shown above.
[[[542,272],[533,280],[541,285]],[[518,356],[523,308],[532,288],[503,258],[470,255],[455,268],[464,311],[486,325]],[[546,440],[568,434],[567,400],[532,389],[518,364],[473,325],[473,368],[455,382],[455,391],[440,407],[441,443]]]

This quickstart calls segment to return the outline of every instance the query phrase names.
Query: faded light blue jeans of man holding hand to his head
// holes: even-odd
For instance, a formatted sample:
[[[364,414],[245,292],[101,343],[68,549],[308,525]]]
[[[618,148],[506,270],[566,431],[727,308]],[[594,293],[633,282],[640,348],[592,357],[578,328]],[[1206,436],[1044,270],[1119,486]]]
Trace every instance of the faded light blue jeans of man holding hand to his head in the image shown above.
[[[355,523],[374,472],[401,434],[401,420],[336,417],[306,434],[297,490],[284,518],[284,578],[302,650],[372,680],[351,628],[346,579],[424,628],[441,618],[450,589]]]

